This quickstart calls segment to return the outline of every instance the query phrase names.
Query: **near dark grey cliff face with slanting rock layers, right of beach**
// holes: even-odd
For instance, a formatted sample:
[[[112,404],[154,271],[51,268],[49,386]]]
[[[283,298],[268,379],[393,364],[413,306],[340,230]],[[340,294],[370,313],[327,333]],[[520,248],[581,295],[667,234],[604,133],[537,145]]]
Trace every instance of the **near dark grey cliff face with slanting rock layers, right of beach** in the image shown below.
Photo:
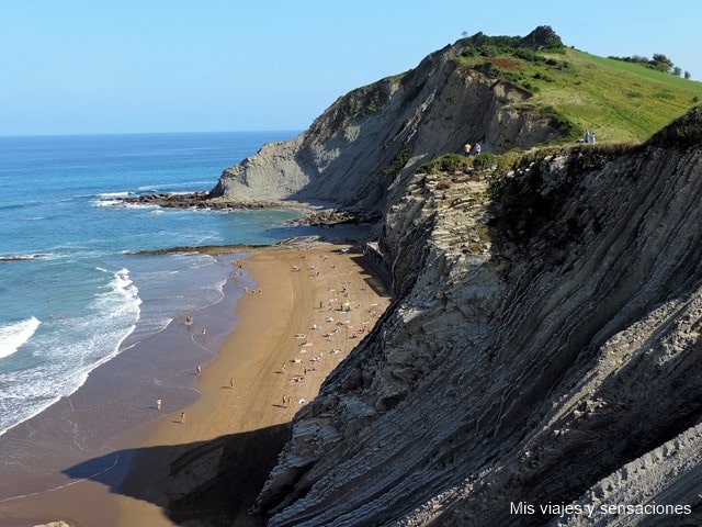
[[[397,301],[297,414],[270,525],[702,520],[702,147],[664,143],[408,180],[381,240]]]

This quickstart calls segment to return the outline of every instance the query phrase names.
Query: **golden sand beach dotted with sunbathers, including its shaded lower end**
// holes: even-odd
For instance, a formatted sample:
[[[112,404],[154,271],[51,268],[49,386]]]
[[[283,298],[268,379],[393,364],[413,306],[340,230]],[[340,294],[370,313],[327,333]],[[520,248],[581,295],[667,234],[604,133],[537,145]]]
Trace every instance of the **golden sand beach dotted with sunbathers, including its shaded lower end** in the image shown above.
[[[223,525],[263,525],[264,518],[246,512],[290,436],[295,412],[389,303],[362,255],[349,248],[252,249],[240,264],[256,293],[249,290],[237,303],[236,328],[199,375],[201,396],[184,408],[185,422],[180,410],[163,412],[155,424],[111,441],[113,450],[98,461],[115,467],[103,474],[0,502],[0,526],[63,519],[81,527],[166,527],[190,517],[217,518],[216,509]],[[339,311],[342,302],[350,312]],[[167,511],[169,500],[173,507]]]

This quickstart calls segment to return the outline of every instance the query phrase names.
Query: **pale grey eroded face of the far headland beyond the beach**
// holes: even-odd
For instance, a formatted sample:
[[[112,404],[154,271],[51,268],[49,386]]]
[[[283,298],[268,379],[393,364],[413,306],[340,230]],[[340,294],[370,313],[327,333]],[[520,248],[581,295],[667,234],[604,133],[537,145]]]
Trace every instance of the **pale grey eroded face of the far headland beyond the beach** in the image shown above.
[[[322,202],[377,215],[394,202],[422,162],[462,153],[529,148],[563,137],[557,121],[519,103],[530,94],[463,69],[458,41],[414,70],[338,99],[295,139],[265,145],[228,168],[212,191],[231,201]]]

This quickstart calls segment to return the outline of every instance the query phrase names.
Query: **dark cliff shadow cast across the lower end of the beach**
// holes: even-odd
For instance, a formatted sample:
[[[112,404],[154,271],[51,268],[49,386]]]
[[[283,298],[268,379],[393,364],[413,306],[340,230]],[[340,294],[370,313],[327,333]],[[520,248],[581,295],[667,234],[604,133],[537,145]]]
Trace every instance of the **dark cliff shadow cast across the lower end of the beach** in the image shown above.
[[[259,527],[268,517],[249,516],[248,509],[290,431],[290,425],[279,425],[211,441],[121,450],[63,472],[152,503],[179,525],[197,519],[203,525]]]

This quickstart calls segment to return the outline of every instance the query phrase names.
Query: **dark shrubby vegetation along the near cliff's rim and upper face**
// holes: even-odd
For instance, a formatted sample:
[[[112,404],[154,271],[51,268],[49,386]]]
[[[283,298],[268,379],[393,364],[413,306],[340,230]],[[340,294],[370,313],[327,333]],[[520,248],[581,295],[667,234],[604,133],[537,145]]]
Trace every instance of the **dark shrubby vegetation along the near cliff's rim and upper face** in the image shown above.
[[[471,157],[449,154],[423,165],[420,171],[440,175],[437,189],[451,188],[466,173],[486,179],[487,198],[491,203],[488,222],[491,236],[523,245],[544,225],[564,216],[563,204],[578,192],[584,173],[601,169],[612,159],[645,150],[648,146],[686,149],[700,144],[702,105],[676,119],[645,143],[551,145],[500,156],[489,153]],[[554,157],[565,158],[567,170],[562,171],[561,178],[546,178],[543,169]],[[587,214],[588,211],[581,208],[569,211],[564,222],[565,229],[552,236],[554,243],[566,244],[580,236],[586,220],[597,232],[600,221],[595,216],[586,218]]]

